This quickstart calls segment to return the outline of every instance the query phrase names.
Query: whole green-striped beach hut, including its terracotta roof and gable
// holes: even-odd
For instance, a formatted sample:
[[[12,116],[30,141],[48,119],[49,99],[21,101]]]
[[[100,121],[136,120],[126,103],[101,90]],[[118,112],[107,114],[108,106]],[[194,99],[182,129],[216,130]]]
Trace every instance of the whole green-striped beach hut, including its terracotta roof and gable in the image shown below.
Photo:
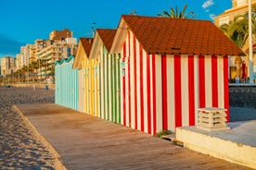
[[[120,123],[118,113],[118,59],[116,55],[109,55],[116,30],[97,29],[95,41],[92,45],[89,59],[97,60],[96,64],[96,88],[99,91],[96,95],[96,106],[99,110],[99,117],[109,121]],[[98,88],[100,87],[100,88]]]

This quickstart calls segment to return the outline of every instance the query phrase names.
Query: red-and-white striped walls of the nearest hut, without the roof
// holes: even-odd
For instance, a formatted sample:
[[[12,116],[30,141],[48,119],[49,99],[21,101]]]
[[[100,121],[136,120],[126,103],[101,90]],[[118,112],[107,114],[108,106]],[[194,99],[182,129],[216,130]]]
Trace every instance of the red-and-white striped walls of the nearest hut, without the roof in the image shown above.
[[[128,32],[122,62],[124,126],[149,134],[175,131],[194,126],[199,107],[229,109],[226,56],[147,55]]]

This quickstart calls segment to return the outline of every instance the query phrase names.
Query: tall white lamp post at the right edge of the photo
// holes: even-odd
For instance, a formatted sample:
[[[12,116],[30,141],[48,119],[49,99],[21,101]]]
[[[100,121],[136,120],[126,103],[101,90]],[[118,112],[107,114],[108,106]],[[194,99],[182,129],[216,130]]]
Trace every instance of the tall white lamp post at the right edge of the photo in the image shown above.
[[[253,53],[252,53],[252,28],[251,28],[251,0],[248,1],[249,10],[249,67],[250,67],[250,84],[253,83]]]

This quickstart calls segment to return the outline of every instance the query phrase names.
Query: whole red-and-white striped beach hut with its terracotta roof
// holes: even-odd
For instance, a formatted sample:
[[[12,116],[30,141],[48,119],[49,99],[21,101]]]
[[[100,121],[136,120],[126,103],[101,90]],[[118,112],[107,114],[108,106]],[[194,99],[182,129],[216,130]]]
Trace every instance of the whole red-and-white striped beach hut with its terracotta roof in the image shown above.
[[[198,108],[227,109],[228,55],[242,51],[211,21],[122,16],[110,54],[122,54],[122,122],[155,134],[194,126]]]

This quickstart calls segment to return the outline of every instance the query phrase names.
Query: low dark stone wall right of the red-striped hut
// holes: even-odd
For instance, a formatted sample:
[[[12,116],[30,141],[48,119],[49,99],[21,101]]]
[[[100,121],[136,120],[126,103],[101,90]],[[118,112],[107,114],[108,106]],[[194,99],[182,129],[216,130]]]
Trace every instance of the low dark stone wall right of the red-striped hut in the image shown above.
[[[256,85],[229,84],[229,105],[256,108]]]

